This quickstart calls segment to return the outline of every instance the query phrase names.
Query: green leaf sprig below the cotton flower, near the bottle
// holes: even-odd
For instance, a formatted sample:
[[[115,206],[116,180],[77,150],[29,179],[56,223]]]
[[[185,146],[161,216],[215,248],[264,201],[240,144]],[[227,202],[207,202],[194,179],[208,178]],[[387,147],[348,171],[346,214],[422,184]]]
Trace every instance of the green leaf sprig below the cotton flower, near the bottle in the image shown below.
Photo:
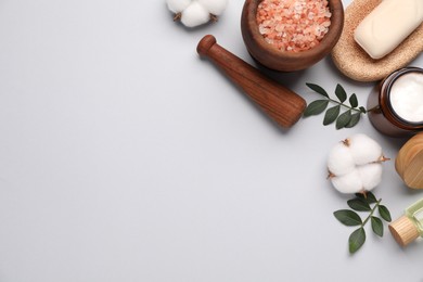
[[[364,226],[370,221],[373,232],[377,236],[383,236],[383,220],[390,222],[390,213],[386,206],[381,205],[382,198],[376,200],[372,192],[366,194],[357,193],[356,196],[347,202],[351,209],[339,209],[333,213],[341,223],[347,227],[359,227],[348,239],[349,253],[356,253],[366,242]],[[373,205],[373,207],[371,206]],[[380,217],[375,215],[377,210]],[[356,211],[369,213],[368,217],[362,220]],[[381,219],[382,218],[382,219]]]

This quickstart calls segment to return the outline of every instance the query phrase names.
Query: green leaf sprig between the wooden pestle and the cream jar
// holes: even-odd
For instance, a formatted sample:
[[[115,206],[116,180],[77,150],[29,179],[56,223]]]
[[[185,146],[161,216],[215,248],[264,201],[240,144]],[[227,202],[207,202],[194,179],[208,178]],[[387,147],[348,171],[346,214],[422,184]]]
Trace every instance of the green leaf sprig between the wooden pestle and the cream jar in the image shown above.
[[[328,108],[330,103],[335,104],[334,106],[328,108],[328,111],[325,112],[323,118],[324,126],[331,125],[336,120],[335,123],[336,129],[351,128],[360,121],[361,114],[367,114],[368,112],[363,106],[358,105],[357,95],[352,93],[348,98],[344,87],[341,86],[339,84],[336,85],[336,89],[335,89],[335,95],[337,100],[332,99],[328,94],[328,92],[318,85],[313,85],[313,84],[306,84],[306,85],[315,92],[321,94],[323,99],[319,99],[309,103],[306,107],[306,111],[304,112],[305,117],[319,115]],[[345,103],[347,99],[349,105]],[[346,110],[342,112],[341,111],[342,108],[346,108]]]

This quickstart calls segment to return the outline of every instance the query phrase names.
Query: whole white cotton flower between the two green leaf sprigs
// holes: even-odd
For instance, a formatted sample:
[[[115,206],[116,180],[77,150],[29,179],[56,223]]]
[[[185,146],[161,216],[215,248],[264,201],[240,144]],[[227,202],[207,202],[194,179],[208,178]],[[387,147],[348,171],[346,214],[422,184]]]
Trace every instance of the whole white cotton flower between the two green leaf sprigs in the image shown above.
[[[381,145],[366,134],[355,134],[335,144],[328,158],[329,178],[341,193],[371,191],[382,180]]]

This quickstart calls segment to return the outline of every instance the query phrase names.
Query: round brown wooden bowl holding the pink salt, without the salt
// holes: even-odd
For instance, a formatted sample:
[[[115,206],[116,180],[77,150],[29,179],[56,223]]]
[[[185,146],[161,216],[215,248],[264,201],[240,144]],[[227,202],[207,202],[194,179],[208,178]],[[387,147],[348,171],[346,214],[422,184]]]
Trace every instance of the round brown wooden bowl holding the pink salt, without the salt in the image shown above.
[[[324,56],[336,44],[344,27],[344,8],[342,0],[329,0],[332,13],[331,26],[320,43],[302,52],[281,51],[266,42],[258,30],[257,7],[262,0],[246,0],[241,16],[241,31],[249,54],[264,66],[281,72],[305,69]]]

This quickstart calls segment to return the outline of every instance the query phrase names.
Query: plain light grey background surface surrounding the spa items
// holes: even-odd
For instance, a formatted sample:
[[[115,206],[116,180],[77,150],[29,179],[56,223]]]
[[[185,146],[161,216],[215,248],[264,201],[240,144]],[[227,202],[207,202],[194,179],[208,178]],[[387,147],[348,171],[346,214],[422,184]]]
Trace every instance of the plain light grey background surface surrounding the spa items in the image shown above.
[[[367,117],[280,130],[198,59],[213,34],[253,64],[242,5],[185,29],[162,0],[0,0],[1,282],[423,281],[423,242],[401,249],[367,229],[348,254],[354,229],[332,213],[349,197],[325,179],[328,151],[350,134],[392,158],[406,140]],[[341,82],[361,104],[374,86],[329,57],[266,73],[307,101],[305,82]],[[375,194],[396,218],[423,193],[384,168]]]

